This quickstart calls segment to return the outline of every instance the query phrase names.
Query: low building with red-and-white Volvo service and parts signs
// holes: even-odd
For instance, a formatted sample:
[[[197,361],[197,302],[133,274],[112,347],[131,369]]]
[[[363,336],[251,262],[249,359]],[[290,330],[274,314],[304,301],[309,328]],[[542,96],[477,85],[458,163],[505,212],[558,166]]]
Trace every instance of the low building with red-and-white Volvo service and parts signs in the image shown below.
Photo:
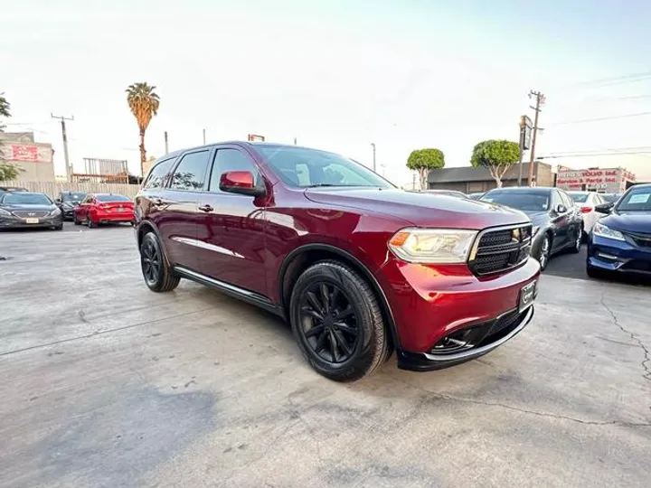
[[[636,182],[636,175],[624,168],[573,170],[559,167],[556,186],[563,190],[622,193]]]

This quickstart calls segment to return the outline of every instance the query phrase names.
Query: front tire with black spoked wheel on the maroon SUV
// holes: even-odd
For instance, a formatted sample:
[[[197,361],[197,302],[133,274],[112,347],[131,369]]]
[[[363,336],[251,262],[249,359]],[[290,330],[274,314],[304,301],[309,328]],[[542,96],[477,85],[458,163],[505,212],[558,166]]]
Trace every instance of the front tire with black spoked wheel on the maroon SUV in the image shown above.
[[[359,380],[390,355],[377,296],[363,277],[338,261],[321,261],[298,277],[289,318],[307,362],[330,380]]]

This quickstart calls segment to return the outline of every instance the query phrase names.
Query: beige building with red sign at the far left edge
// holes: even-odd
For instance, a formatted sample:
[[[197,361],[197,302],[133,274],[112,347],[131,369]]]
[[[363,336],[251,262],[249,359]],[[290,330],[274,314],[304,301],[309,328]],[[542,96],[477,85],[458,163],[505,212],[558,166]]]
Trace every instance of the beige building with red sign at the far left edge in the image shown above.
[[[52,145],[34,141],[33,132],[0,132],[0,160],[23,168],[24,182],[53,182]]]

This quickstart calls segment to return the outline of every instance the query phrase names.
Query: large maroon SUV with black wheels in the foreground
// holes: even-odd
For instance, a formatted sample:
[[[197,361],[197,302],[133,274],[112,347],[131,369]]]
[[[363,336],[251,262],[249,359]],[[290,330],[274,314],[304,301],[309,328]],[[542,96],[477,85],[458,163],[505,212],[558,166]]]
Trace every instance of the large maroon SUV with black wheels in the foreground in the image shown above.
[[[136,197],[146,285],[180,278],[284,317],[316,371],[357,380],[474,359],[533,316],[520,211],[404,192],[325,151],[231,142],[161,158]]]

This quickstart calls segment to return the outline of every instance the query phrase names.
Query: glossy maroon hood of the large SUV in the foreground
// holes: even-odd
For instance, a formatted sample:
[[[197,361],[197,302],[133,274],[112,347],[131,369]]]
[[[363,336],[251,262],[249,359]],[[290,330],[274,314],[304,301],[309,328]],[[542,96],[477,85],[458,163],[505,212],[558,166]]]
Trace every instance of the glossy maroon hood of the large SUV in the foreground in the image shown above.
[[[493,203],[393,188],[309,188],[305,195],[312,202],[391,215],[418,227],[481,230],[529,221],[523,212]]]

